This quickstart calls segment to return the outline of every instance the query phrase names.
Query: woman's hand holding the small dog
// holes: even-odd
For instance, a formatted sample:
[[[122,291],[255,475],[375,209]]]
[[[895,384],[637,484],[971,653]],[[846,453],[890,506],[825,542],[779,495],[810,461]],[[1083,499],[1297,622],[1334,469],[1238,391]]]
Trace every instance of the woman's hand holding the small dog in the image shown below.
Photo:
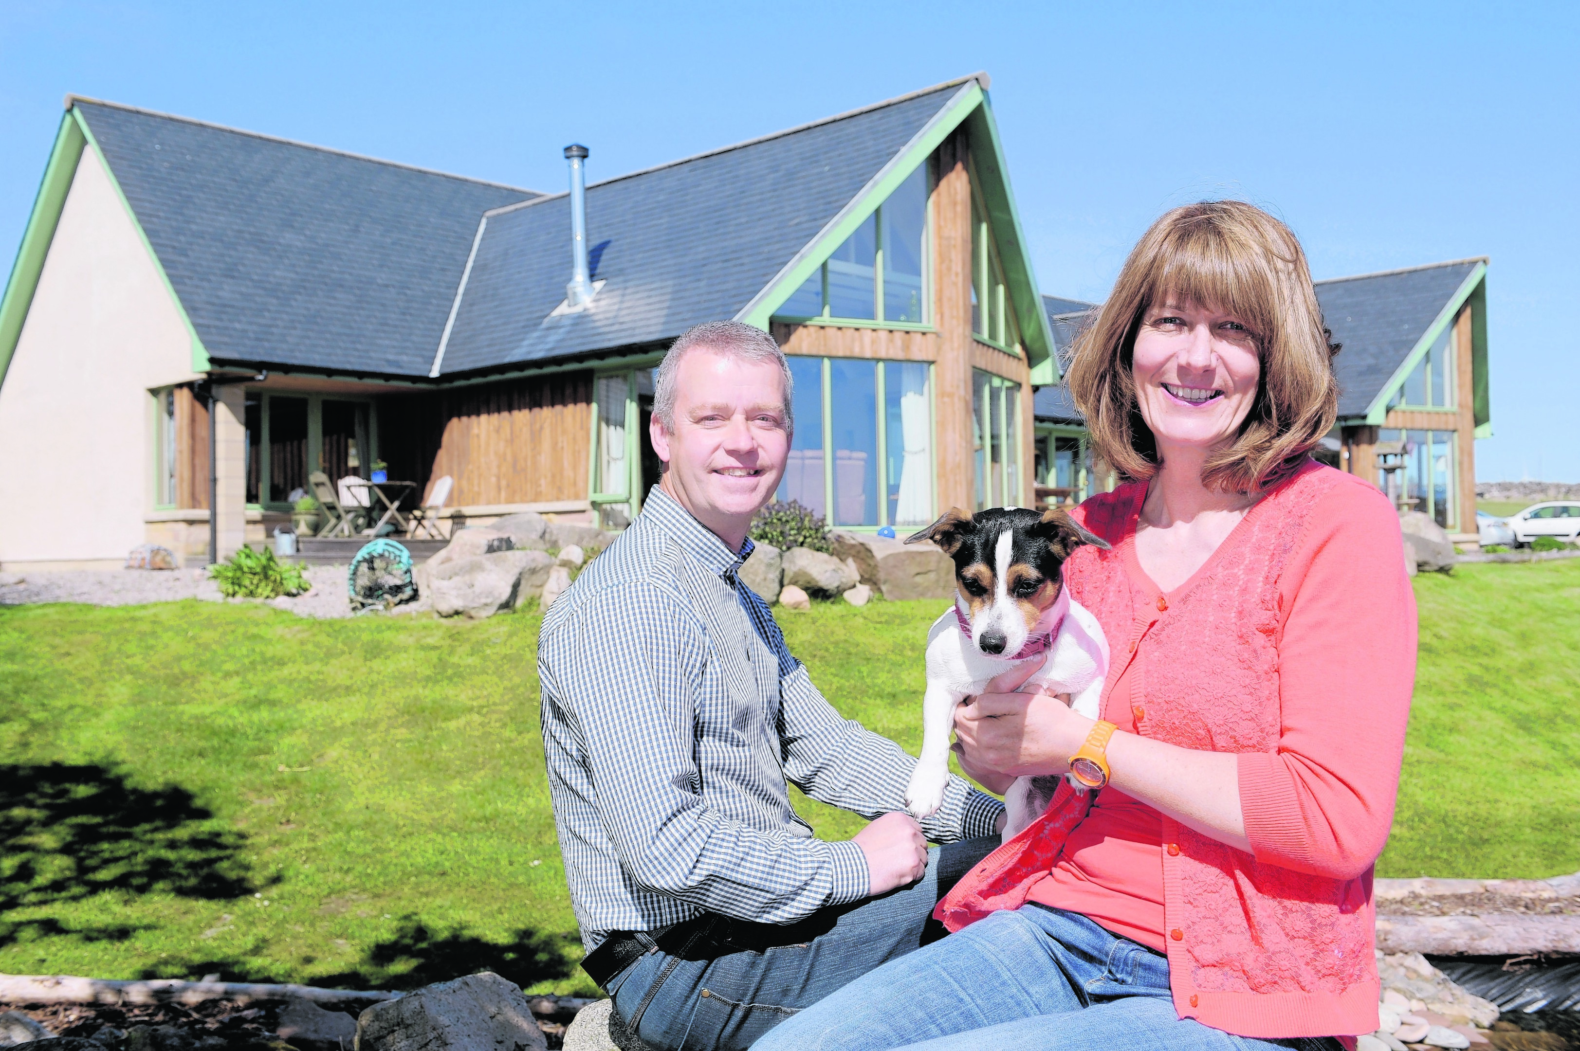
[[[1035,664],[1011,669],[991,681],[988,692],[954,710],[961,770],[1000,795],[1014,778],[1065,773],[1092,730],[1092,719],[1070,711],[1068,694],[1013,692],[1035,672]]]

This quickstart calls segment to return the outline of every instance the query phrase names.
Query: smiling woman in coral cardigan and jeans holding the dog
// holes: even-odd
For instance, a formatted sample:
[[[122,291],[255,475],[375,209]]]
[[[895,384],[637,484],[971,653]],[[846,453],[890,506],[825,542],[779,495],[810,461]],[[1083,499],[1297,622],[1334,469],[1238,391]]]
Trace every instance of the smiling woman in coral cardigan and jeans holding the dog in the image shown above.
[[[1112,653],[1101,721],[1010,692],[956,719],[989,789],[1071,759],[1106,787],[1063,785],[978,865],[935,914],[954,934],[757,1048],[1334,1048],[1376,1029],[1371,868],[1416,608],[1387,499],[1310,458],[1335,351],[1278,220],[1224,201],[1147,231],[1070,370],[1128,479],[1076,512],[1112,550],[1065,564]]]

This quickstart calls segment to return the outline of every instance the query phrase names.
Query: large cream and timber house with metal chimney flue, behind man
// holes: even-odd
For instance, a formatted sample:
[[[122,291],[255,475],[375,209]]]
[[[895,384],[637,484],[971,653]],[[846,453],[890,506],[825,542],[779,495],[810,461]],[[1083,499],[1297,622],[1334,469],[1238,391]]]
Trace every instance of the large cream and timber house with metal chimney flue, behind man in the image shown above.
[[[224,556],[374,461],[458,522],[618,528],[651,370],[719,318],[790,356],[782,498],[1032,501],[1059,371],[986,74],[588,185],[589,302],[572,196],[68,98],[0,300],[0,564]]]

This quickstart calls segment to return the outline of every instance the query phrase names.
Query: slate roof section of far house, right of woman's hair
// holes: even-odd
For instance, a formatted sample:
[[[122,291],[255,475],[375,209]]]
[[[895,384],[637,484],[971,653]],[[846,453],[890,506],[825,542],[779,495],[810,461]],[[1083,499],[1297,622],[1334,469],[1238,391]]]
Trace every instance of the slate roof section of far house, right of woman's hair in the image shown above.
[[[1343,345],[1334,359],[1340,419],[1365,416],[1382,386],[1480,262],[1484,259],[1458,259],[1316,283],[1322,321],[1334,332],[1334,340]]]

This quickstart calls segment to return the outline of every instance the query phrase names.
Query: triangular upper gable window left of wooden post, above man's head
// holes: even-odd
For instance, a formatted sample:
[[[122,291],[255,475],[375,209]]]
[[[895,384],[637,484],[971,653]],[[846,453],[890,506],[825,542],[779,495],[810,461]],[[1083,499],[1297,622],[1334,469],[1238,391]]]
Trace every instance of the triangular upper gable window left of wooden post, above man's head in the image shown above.
[[[776,316],[926,322],[927,164],[905,177]]]

